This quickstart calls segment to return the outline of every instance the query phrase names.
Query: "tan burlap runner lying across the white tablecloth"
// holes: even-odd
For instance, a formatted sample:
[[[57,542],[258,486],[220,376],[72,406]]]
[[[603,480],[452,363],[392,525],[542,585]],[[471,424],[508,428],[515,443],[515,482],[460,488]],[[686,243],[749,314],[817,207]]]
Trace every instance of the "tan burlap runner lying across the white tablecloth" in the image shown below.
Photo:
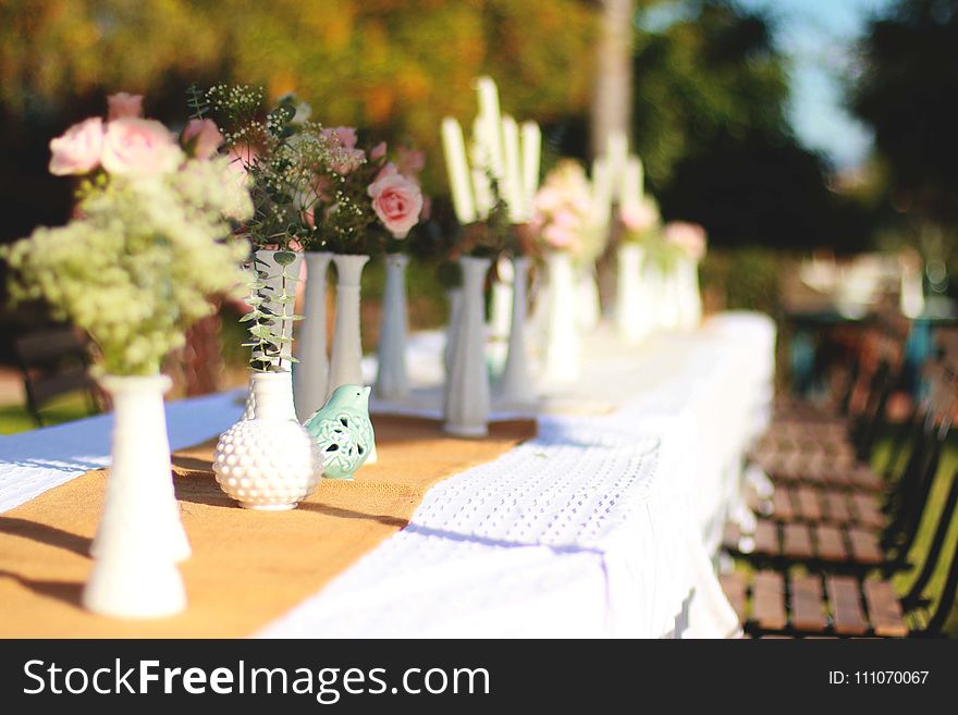
[[[0,637],[242,637],[318,591],[406,526],[427,490],[535,435],[531,420],[460,440],[439,422],[377,417],[379,463],[356,481],[322,480],[292,511],[249,511],[211,470],[216,441],[174,454],[176,495],[193,557],[181,566],[188,608],[159,620],[119,620],[79,606],[87,552],[102,508],[95,470],[0,514]]]

